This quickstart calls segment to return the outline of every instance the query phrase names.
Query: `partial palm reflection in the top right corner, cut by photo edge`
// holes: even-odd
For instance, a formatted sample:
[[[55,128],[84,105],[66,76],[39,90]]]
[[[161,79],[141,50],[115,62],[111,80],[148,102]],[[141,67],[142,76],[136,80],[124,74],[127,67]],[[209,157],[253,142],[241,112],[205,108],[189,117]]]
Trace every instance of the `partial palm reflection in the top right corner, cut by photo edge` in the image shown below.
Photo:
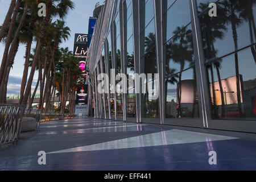
[[[255,26],[255,20],[253,16],[253,6],[255,3],[256,3],[256,0],[238,1],[238,7],[237,7],[237,10],[240,13],[240,17],[245,19],[249,24],[251,44],[254,43],[254,39],[256,40],[256,26]],[[254,35],[253,35],[253,32],[254,32]],[[254,36],[254,39],[253,39],[253,36]],[[254,61],[256,63],[256,45],[251,46],[251,53],[253,53]]]

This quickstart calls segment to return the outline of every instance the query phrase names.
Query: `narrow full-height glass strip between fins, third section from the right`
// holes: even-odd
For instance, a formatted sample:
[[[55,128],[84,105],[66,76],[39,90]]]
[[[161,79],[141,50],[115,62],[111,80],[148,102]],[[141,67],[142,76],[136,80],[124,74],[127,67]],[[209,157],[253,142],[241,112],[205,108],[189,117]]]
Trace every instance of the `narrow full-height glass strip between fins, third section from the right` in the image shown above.
[[[141,20],[141,73],[148,74],[158,73],[158,63],[156,60],[156,42],[155,42],[155,18],[154,18],[154,1],[140,1],[142,9],[140,10]],[[150,118],[159,119],[159,98],[152,97],[148,92],[148,87],[158,86],[158,80],[154,75],[152,80],[142,82],[146,88],[146,93],[142,93],[141,110],[142,121],[149,122]]]

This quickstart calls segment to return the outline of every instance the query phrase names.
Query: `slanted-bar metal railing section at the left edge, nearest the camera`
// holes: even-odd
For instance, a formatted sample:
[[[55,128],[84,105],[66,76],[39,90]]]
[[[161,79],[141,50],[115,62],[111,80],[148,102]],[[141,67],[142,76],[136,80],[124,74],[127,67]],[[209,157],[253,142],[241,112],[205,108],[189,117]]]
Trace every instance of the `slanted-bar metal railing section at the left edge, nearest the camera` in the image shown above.
[[[18,141],[24,109],[23,105],[0,104],[0,145]]]

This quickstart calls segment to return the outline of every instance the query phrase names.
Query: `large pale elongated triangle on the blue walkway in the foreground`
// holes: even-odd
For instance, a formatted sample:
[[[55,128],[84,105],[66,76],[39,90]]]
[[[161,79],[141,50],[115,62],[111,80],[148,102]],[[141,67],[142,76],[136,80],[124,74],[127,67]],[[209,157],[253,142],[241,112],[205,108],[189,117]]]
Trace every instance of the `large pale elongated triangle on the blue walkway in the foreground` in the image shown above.
[[[207,142],[207,141],[212,142],[217,140],[231,140],[231,139],[236,139],[236,138],[175,129],[175,130],[161,131],[158,133],[140,135],[138,137],[131,137],[131,138],[114,140],[110,142],[97,143],[89,146],[68,148],[66,150],[49,152],[48,154],[79,152],[79,151],[114,150],[114,149],[122,149],[122,148],[137,148],[137,147],[150,147],[150,146],[164,146],[164,145],[170,145],[170,144],[197,143],[197,142]]]

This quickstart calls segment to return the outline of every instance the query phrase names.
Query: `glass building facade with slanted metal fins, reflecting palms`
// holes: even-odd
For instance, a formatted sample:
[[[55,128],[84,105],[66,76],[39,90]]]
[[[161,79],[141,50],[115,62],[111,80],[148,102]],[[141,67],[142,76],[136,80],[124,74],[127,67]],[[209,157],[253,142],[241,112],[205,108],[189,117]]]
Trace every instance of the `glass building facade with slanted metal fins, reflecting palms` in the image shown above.
[[[94,117],[256,133],[256,2],[214,3],[105,1],[86,60]]]

